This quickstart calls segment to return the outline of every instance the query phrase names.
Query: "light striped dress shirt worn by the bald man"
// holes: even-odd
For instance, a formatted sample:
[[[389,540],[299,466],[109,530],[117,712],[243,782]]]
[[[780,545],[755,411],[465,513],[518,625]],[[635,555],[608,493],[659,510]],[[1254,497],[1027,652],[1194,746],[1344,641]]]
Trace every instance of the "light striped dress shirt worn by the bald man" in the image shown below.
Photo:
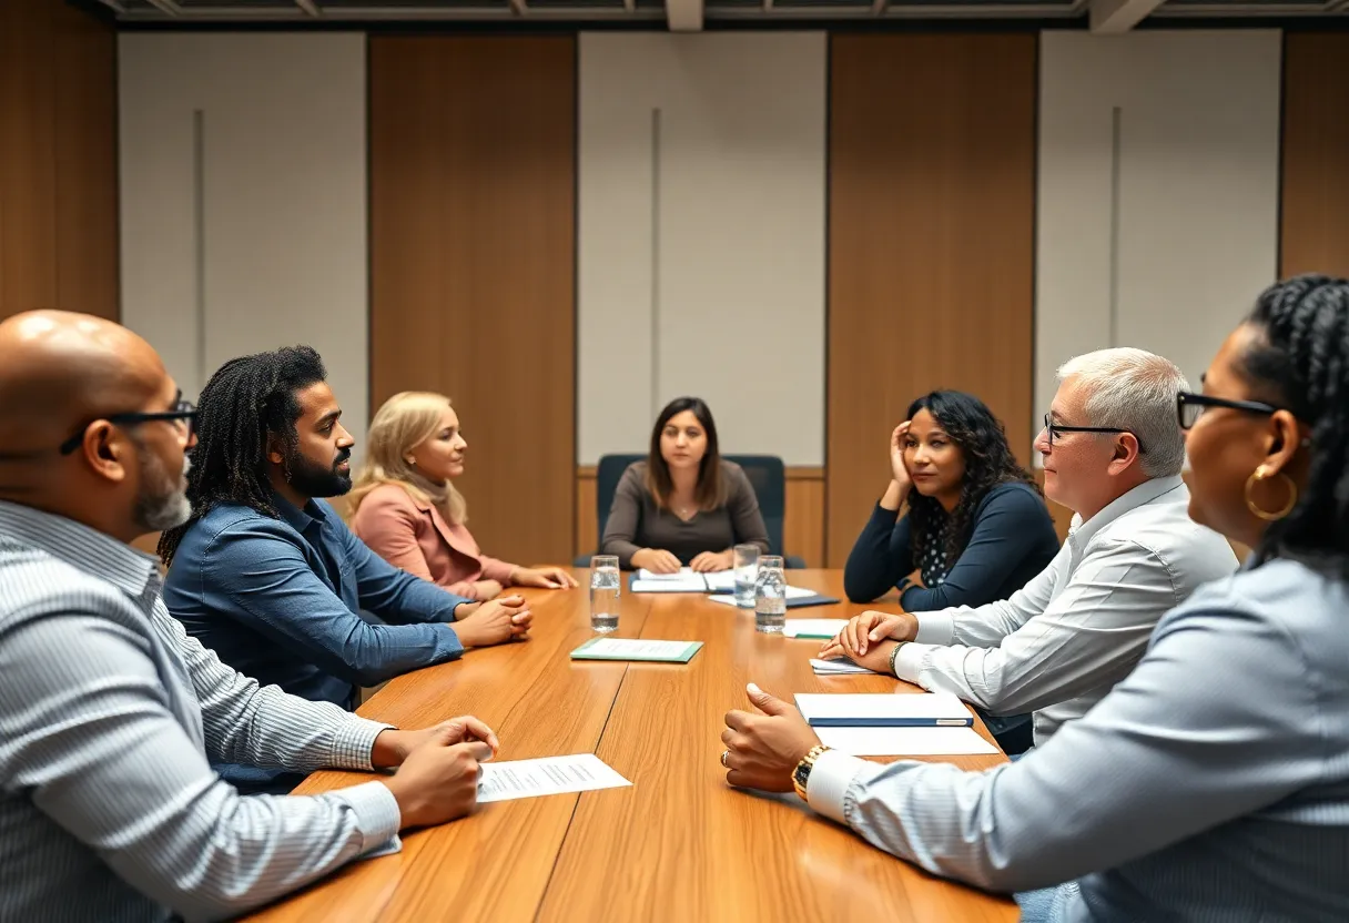
[[[378,781],[243,798],[209,761],[370,769],[384,725],[189,638],[155,561],[0,502],[0,920],[233,916],[389,841]]]

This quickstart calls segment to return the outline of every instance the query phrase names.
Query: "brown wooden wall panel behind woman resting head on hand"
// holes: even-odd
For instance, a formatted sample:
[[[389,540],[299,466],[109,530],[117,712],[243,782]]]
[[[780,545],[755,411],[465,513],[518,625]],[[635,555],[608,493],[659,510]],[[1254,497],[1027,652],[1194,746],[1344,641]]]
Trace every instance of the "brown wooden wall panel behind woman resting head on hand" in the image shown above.
[[[835,35],[826,556],[915,397],[982,397],[1031,460],[1036,36]]]

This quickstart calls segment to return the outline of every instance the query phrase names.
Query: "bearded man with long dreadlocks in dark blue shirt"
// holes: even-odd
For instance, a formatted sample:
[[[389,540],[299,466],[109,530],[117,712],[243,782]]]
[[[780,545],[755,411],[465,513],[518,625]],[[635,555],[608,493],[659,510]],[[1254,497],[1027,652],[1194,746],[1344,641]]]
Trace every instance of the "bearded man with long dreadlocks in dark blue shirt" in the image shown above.
[[[519,596],[473,603],[391,567],[318,499],[351,490],[353,444],[325,378],[309,347],[232,359],[210,376],[188,475],[193,515],[163,533],[159,556],[169,611],[223,661],[352,710],[359,686],[525,638],[533,617]],[[250,791],[299,781],[217,769]]]

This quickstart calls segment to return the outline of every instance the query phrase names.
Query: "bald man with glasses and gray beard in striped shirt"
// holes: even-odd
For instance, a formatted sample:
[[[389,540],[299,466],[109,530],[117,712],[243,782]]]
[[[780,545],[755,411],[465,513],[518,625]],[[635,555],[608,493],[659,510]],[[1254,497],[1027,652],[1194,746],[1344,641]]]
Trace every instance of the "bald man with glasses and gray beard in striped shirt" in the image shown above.
[[[96,317],[0,323],[0,920],[235,916],[461,816],[496,738],[260,688],[189,638],[127,542],[188,518],[183,402]],[[240,796],[210,761],[398,773]]]

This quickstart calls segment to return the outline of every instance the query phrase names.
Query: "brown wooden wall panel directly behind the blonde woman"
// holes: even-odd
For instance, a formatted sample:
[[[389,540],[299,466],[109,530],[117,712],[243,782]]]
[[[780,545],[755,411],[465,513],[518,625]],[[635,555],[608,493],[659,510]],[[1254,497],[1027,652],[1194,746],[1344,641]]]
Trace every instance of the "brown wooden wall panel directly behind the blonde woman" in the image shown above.
[[[370,39],[371,410],[448,394],[483,551],[571,556],[575,36]]]

